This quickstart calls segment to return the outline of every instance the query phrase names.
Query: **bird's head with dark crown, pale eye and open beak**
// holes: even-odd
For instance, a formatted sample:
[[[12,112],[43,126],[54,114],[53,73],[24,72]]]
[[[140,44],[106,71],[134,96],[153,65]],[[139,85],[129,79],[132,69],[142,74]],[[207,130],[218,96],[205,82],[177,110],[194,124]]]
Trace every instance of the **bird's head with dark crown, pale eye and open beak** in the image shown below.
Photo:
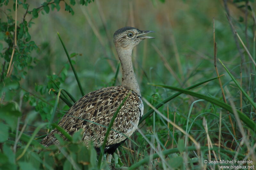
[[[154,33],[154,31],[141,31],[133,27],[123,27],[118,29],[114,34],[114,44],[125,49],[132,49],[140,43],[141,40],[147,38],[155,38],[149,36],[141,36],[147,33]]]

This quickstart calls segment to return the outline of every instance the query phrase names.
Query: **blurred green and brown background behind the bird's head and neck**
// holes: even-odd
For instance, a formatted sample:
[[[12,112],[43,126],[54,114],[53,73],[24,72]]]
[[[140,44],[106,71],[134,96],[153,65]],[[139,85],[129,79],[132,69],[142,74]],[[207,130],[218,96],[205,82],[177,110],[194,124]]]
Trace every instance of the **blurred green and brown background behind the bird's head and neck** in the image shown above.
[[[40,1],[29,4],[37,7],[40,6]],[[243,11],[231,2],[228,5],[232,19],[244,20]],[[31,40],[40,48],[39,53],[33,55],[39,62],[24,81],[24,86],[32,88],[31,90],[34,89],[35,82],[44,84],[45,75],[58,74],[67,63],[57,32],[69,53],[80,54],[73,59],[76,61],[76,70],[85,93],[108,85],[114,77],[118,63],[113,34],[124,26],[156,32],[152,34],[156,39],[145,40],[133,50],[135,73],[144,97],[152,94],[148,90],[151,87],[147,82],[187,87],[200,80],[212,78],[216,76],[213,66],[213,18],[218,58],[234,69],[238,76],[240,56],[221,1],[96,1],[88,6],[75,5],[73,16],[64,11],[64,2],[60,2],[60,7],[59,12],[55,10],[49,14],[39,14],[37,19],[33,19],[35,24],[29,28]],[[21,19],[22,15],[18,18]],[[252,24],[252,18],[249,23]],[[236,29],[242,37],[244,27],[244,21],[236,23]],[[248,37],[253,39],[251,29],[248,29]],[[252,44],[249,45],[252,47]],[[164,61],[154,46],[171,66],[181,84],[164,67]],[[180,64],[177,63],[175,55]],[[249,61],[248,58],[246,60]],[[223,70],[222,67],[219,69]],[[220,74],[223,72],[220,71]],[[120,84],[120,78],[121,71],[117,85]],[[229,79],[226,76],[222,79],[225,78]],[[72,71],[69,70],[64,87],[79,97],[74,80]],[[207,87],[211,89],[209,93],[214,95],[215,86],[211,85]],[[219,89],[219,86],[216,88]],[[208,88],[204,88],[206,89]]]

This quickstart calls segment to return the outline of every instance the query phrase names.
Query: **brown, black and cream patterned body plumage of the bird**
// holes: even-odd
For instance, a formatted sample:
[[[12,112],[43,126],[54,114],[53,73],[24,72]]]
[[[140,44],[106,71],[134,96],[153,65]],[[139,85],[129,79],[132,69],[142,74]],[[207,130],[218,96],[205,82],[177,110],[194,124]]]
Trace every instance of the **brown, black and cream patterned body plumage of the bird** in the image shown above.
[[[60,120],[59,126],[65,129],[70,135],[74,134],[78,129],[83,128],[84,143],[88,145],[90,141],[93,141],[94,146],[99,148],[107,132],[106,127],[108,127],[114,113],[128,94],[130,95],[119,110],[112,126],[112,129],[117,132],[111,130],[109,133],[105,148],[108,150],[110,145],[124,141],[126,139],[124,135],[130,137],[136,130],[136,126],[134,125],[138,125],[143,115],[141,97],[130,89],[116,86],[88,93],[68,110]],[[54,137],[55,133],[60,134],[65,139],[57,129],[53,129],[41,143],[46,147],[59,143]]]

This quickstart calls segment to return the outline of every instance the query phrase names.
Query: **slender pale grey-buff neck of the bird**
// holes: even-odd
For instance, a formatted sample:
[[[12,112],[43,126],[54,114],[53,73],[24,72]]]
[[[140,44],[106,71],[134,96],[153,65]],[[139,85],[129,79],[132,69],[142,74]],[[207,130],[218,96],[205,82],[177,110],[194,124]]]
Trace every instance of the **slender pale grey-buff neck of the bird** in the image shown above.
[[[136,92],[139,96],[140,89],[135,77],[132,66],[132,49],[124,49],[120,46],[116,46],[116,51],[122,66],[122,85],[132,91]]]

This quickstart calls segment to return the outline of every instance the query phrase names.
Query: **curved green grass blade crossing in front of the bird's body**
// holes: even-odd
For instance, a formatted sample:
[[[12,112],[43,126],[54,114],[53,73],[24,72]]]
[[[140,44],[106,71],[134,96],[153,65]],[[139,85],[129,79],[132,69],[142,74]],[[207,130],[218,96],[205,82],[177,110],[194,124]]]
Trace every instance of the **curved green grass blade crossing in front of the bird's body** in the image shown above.
[[[100,156],[99,156],[99,159],[98,159],[98,166],[99,166],[99,168],[100,168],[100,166],[101,166],[101,159],[102,159],[102,156],[103,156],[103,154],[104,154],[104,150],[105,150],[105,146],[106,146],[106,143],[107,143],[107,140],[108,140],[109,132],[110,132],[110,130],[111,130],[113,124],[114,124],[114,121],[115,121],[115,119],[116,119],[116,116],[117,116],[119,110],[121,109],[121,107],[123,106],[124,102],[126,101],[126,99],[127,99],[129,96],[130,96],[130,93],[129,93],[126,97],[124,97],[122,103],[121,103],[120,106],[117,108],[116,112],[114,113],[114,115],[113,115],[113,117],[112,117],[112,119],[111,119],[111,121],[110,121],[110,123],[109,123],[109,125],[108,125],[108,129],[107,129],[107,132],[106,132],[104,141],[103,141],[103,143],[102,143],[101,152],[100,152]]]

